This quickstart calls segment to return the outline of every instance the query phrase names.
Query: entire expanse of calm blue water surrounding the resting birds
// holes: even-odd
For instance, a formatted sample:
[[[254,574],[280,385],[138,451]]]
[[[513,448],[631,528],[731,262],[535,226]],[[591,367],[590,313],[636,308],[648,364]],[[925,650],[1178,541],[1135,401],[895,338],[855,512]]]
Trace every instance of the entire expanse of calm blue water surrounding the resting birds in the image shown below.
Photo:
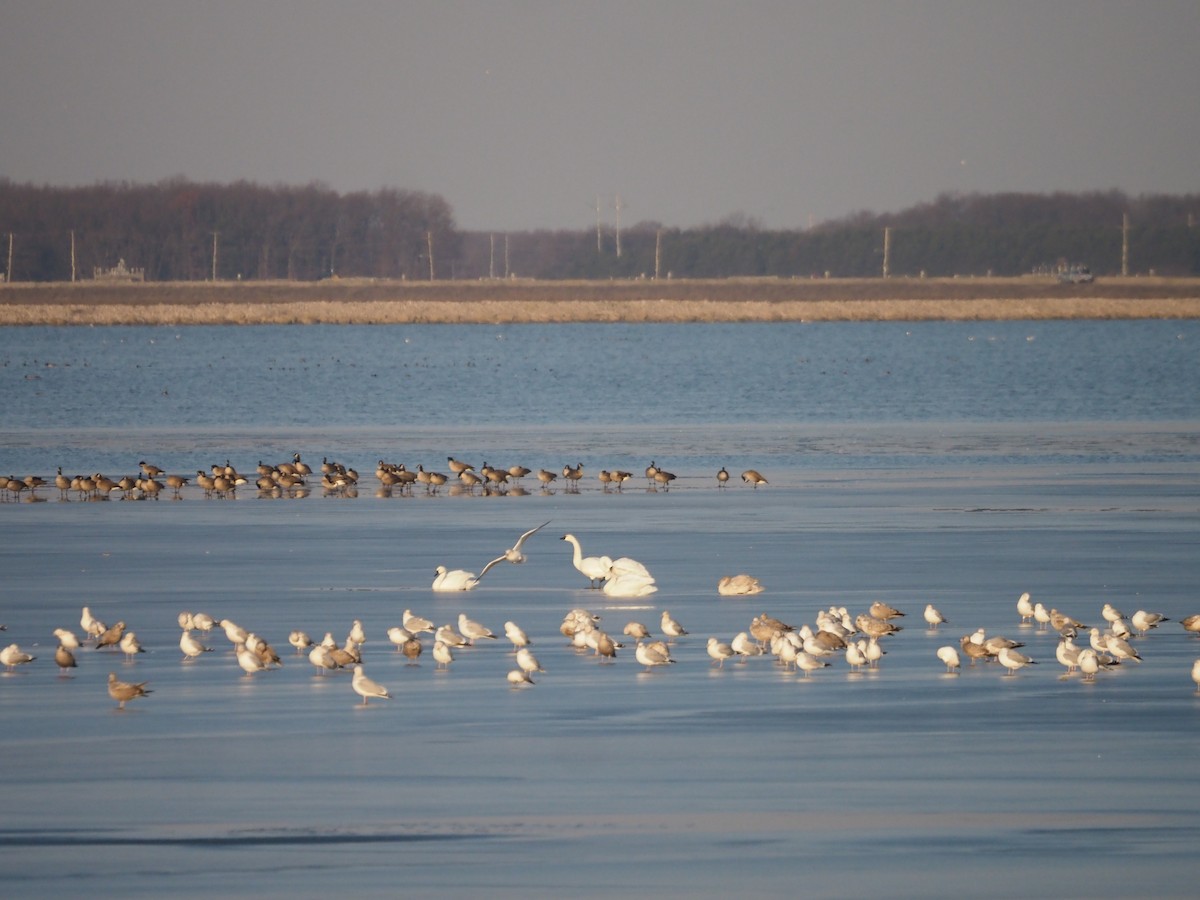
[[[1192,896],[1200,868],[1200,325],[0,329],[0,470],[253,470],[295,451],[362,470],[356,497],[0,504],[0,673],[13,895]],[[582,490],[382,497],[376,461],[560,472]],[[600,468],[637,478],[604,492]],[[720,466],[761,468],[720,491]],[[438,564],[479,571],[430,590]],[[634,556],[659,593],[586,589],[558,540]],[[754,600],[719,598],[749,571]],[[1111,602],[1171,618],[1144,661],[1085,684],[1022,590],[1087,624]],[[762,611],[904,610],[871,673],[811,678],[767,659],[714,668]],[[935,602],[949,619],[928,632]],[[89,605],[146,653],[80,649],[54,628]],[[691,632],[667,670],[565,646],[587,606],[619,632]],[[510,689],[503,638],[448,672],[392,652],[404,608],[497,632],[518,622],[547,670]],[[182,662],[176,613],[228,617],[283,667],[238,668],[220,631]],[[390,702],[362,708],[287,635],[367,631]],[[944,673],[985,628],[1026,643],[1016,676]],[[1086,634],[1081,636],[1081,643]],[[154,694],[115,710],[109,671]]]

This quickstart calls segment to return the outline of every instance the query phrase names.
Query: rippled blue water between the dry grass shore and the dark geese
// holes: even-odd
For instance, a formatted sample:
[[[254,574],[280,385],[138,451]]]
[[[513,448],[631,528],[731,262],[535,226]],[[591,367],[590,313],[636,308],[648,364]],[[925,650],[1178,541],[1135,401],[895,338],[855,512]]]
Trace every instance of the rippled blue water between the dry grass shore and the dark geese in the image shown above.
[[[1194,461],[1198,344],[1190,320],[0,329],[0,466]]]

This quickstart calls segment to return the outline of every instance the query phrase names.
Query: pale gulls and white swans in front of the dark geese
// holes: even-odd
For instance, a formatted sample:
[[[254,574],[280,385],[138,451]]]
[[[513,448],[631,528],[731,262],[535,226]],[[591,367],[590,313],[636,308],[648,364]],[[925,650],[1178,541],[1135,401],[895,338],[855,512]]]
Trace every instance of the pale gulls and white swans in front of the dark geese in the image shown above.
[[[548,522],[529,529],[516,541],[515,546],[488,564],[509,562],[518,564],[524,560],[522,545],[532,535],[545,528]],[[607,557],[583,557],[578,539],[565,534],[562,540],[572,545],[575,568],[588,578],[589,586],[600,583],[626,583],[631,596],[644,596],[654,588],[653,576],[637,560]],[[598,560],[598,562],[589,562]],[[444,569],[444,566],[439,566]],[[486,568],[485,568],[486,571]],[[468,574],[469,575],[469,574]],[[439,574],[442,577],[442,574]],[[623,580],[632,578],[631,582]],[[730,578],[722,578],[725,584]],[[744,594],[756,594],[762,586],[750,576],[737,576],[742,583],[752,586],[754,590]],[[478,584],[478,578],[460,582],[458,590],[468,590]],[[719,595],[728,592],[720,590]],[[636,607],[648,608],[648,607]],[[1055,660],[1063,667],[1062,678],[1076,677],[1082,683],[1094,683],[1098,677],[1120,667],[1138,666],[1144,656],[1140,648],[1148,648],[1150,636],[1169,619],[1162,613],[1138,610],[1133,616],[1126,616],[1110,604],[1099,611],[1100,625],[1087,625],[1055,607],[1033,602],[1028,593],[1016,601],[1018,628],[1034,629],[1036,634],[1051,632],[1056,635]],[[877,673],[883,666],[888,646],[904,626],[896,624],[906,613],[883,601],[872,602],[865,611],[852,613],[844,606],[830,606],[818,610],[811,624],[800,625],[786,623],[763,612],[754,616],[745,630],[740,630],[728,640],[718,636],[707,638],[694,637],[670,610],[662,610],[658,622],[652,626],[644,622],[629,620],[624,624],[608,624],[600,614],[576,607],[570,610],[558,628],[558,636],[538,636],[538,642],[565,640],[576,655],[612,664],[632,656],[641,672],[667,670],[680,659],[701,659],[700,647],[704,648],[709,667],[724,670],[732,665],[766,665],[769,662],[778,671],[796,673],[803,679],[811,679],[815,673],[826,668],[845,666],[850,673]],[[930,635],[938,634],[942,625],[949,625],[947,618],[931,604],[923,612],[926,630]],[[269,641],[253,630],[228,619],[204,613],[181,612],[178,616],[180,629],[179,650],[180,665],[193,665],[206,654],[216,650],[212,643],[220,643],[214,634],[223,634],[228,649],[221,656],[232,655],[245,678],[259,678],[262,673],[283,667],[283,659]],[[619,625],[619,631],[617,630]],[[1184,631],[1200,636],[1200,614],[1181,620]],[[55,628],[52,634],[58,638],[54,652],[54,664],[60,674],[70,674],[78,667],[77,653],[80,650],[97,652],[106,656],[125,658],[126,666],[137,662],[145,648],[137,635],[124,620],[113,625],[96,617],[89,606],[84,606],[79,617],[82,636],[68,628]],[[6,630],[0,625],[0,630]],[[546,673],[530,646],[524,629],[516,622],[503,624],[504,640],[511,649],[484,650],[504,655],[503,670],[505,682],[515,690],[536,684]],[[360,619],[354,619],[347,630],[346,638],[337,641],[334,632],[326,631],[323,640],[313,641],[305,631],[294,629],[288,635],[288,643],[298,656],[306,656],[312,666],[313,677],[325,678],[338,672],[350,673],[350,690],[361,698],[361,706],[372,701],[390,700],[394,694],[389,686],[380,684],[367,674],[362,648],[368,636]],[[426,646],[434,660],[434,670],[451,671],[455,660],[463,653],[478,653],[480,648],[502,646],[500,637],[486,624],[472,619],[467,613],[458,613],[456,623],[436,624],[412,610],[404,610],[400,624],[386,629],[386,641],[394,647],[394,653],[403,654],[408,665],[419,665]],[[1078,641],[1078,642],[1076,642]],[[958,676],[962,667],[979,670],[995,668],[1003,677],[1015,677],[1030,666],[1049,664],[1049,659],[1033,659],[1026,650],[1024,641],[1004,635],[989,635],[985,629],[977,628],[962,635],[955,643],[947,643],[936,649],[934,656],[944,666],[946,676]],[[763,664],[751,664],[751,660],[764,660]],[[12,643],[0,650],[0,665],[6,674],[12,674],[24,666],[37,661],[37,656]],[[1192,680],[1200,694],[1200,659],[1192,667]],[[149,680],[121,680],[114,671],[109,671],[107,691],[116,701],[118,709],[125,709],[126,703],[148,697],[154,689]],[[378,703],[377,703],[378,704]]]

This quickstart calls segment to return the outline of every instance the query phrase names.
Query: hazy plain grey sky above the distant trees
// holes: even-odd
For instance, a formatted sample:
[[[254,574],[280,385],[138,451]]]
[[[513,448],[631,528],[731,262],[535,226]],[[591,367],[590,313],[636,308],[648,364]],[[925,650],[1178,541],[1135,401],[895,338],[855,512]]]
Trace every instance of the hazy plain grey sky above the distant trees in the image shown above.
[[[1196,0],[4,6],[16,182],[395,187],[494,232],[1200,191]]]

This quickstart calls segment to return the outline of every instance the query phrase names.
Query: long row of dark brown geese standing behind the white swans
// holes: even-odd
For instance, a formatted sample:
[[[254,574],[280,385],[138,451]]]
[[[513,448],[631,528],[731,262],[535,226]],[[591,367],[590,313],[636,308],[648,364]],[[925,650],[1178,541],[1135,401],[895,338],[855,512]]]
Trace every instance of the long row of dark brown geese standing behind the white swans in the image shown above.
[[[359,472],[338,462],[332,462],[328,457],[322,461],[319,473],[300,458],[300,454],[294,454],[290,462],[269,464],[259,462],[253,480],[232,466],[228,461],[223,464],[214,463],[208,472],[197,469],[194,475],[168,474],[163,469],[148,463],[145,460],[138,463],[139,475],[122,475],[109,478],[103,473],[90,475],[66,475],[60,466],[53,479],[44,479],[41,475],[0,475],[0,496],[6,500],[37,502],[47,499],[42,488],[58,490],[59,499],[71,498],[79,500],[104,500],[104,499],[157,499],[161,494],[168,494],[173,499],[182,497],[185,487],[194,482],[194,486],[204,492],[205,497],[228,498],[235,497],[238,490],[251,484],[260,496],[269,497],[302,497],[307,496],[314,485],[319,485],[326,494],[356,496],[359,488]],[[536,478],[540,490],[550,492],[559,479],[558,473],[548,469],[533,469],[524,466],[510,466],[497,468],[484,462],[476,470],[473,463],[462,462],[452,456],[446,457],[449,473],[427,470],[422,464],[415,469],[407,468],[403,463],[391,463],[379,461],[374,476],[378,480],[378,491],[382,496],[394,492],[412,492],[418,486],[422,486],[427,493],[437,493],[439,488],[449,485],[449,491],[454,493],[473,494],[475,488],[484,493],[524,493],[523,479],[528,475]],[[577,492],[584,479],[583,463],[575,466],[563,466],[562,484],[564,490]],[[716,473],[716,486],[724,488],[730,481],[730,473],[722,466]],[[596,474],[601,490],[620,491],[626,481],[634,479],[634,473],[622,469],[601,469]],[[671,482],[676,480],[672,472],[659,467],[654,461],[646,467],[646,484],[648,490],[671,488]],[[767,479],[757,469],[746,469],[742,473],[743,484],[757,488],[766,485]]]

